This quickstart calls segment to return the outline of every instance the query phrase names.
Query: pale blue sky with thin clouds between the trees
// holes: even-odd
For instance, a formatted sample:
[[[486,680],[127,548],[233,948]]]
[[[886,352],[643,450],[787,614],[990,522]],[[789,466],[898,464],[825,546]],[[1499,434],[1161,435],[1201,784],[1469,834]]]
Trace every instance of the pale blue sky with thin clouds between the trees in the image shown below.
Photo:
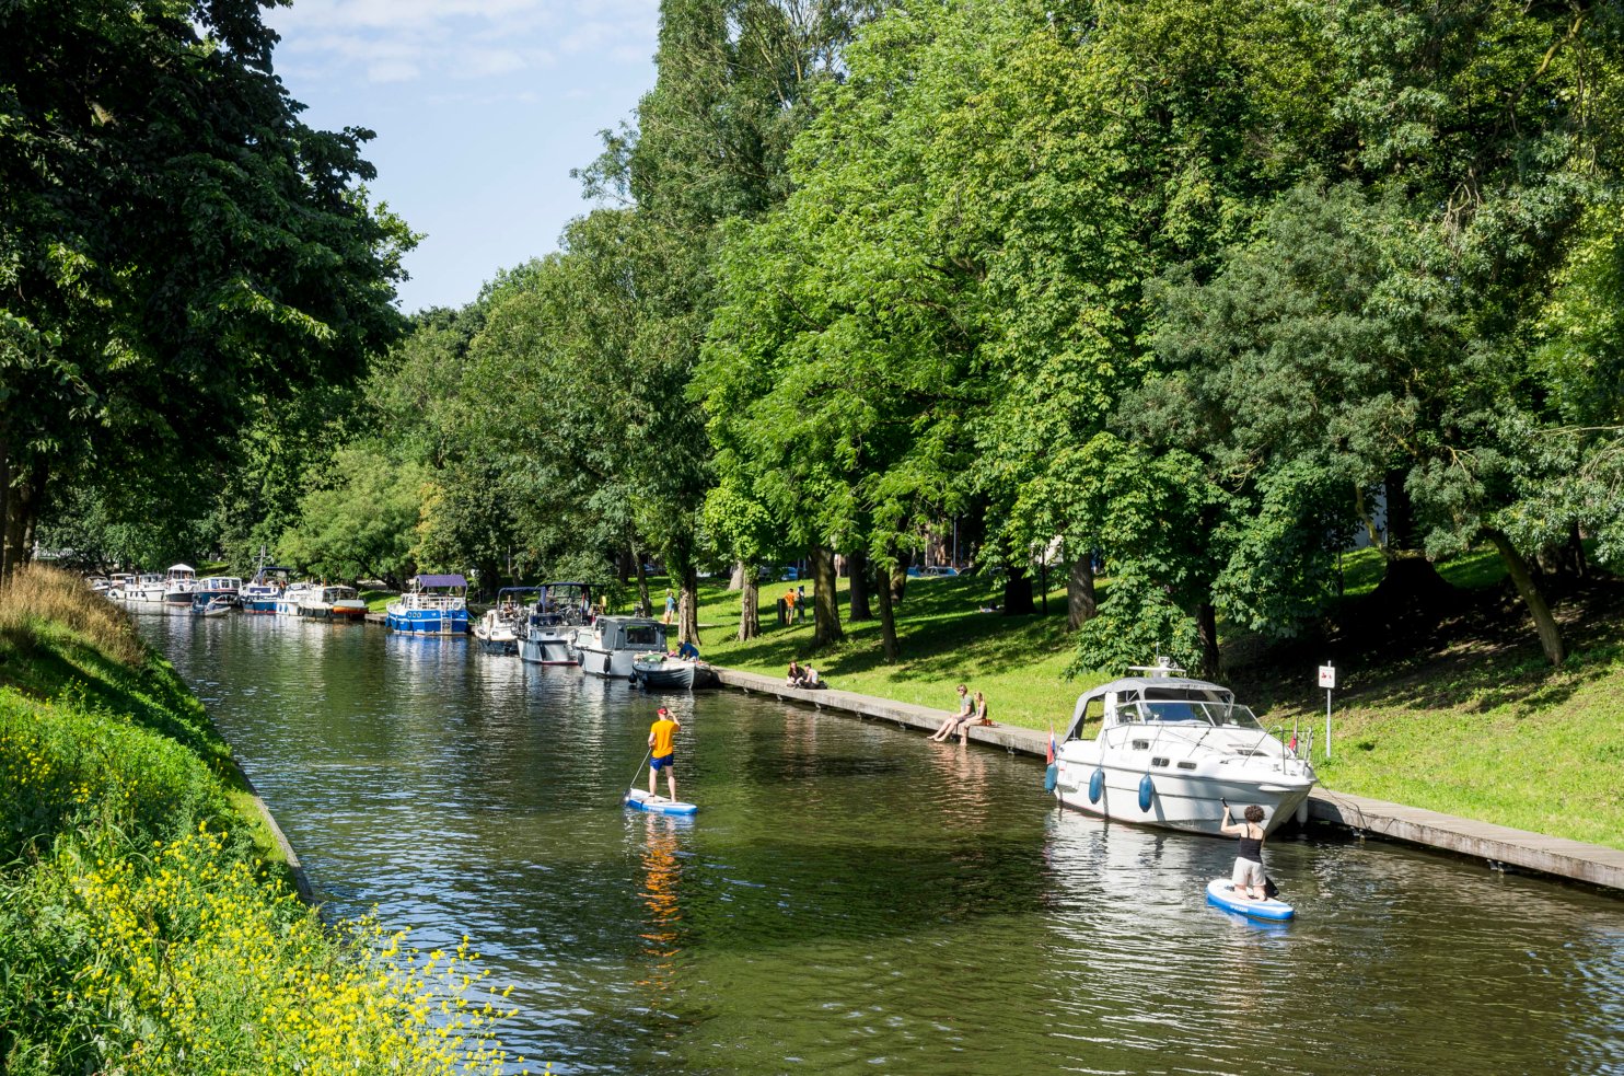
[[[658,0],[294,0],[265,21],[312,127],[377,132],[367,184],[425,239],[401,309],[463,306],[591,210],[572,167],[654,83]]]

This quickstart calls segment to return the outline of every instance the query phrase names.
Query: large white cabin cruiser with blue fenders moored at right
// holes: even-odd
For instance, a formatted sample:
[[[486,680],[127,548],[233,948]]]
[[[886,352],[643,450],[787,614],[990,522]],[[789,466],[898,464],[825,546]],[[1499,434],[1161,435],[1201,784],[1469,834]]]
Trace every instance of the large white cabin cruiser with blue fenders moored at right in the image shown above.
[[[1085,692],[1060,743],[1056,796],[1088,814],[1216,834],[1223,801],[1263,808],[1273,831],[1307,800],[1314,767],[1234,694],[1164,662]],[[1085,723],[1098,715],[1095,740]]]

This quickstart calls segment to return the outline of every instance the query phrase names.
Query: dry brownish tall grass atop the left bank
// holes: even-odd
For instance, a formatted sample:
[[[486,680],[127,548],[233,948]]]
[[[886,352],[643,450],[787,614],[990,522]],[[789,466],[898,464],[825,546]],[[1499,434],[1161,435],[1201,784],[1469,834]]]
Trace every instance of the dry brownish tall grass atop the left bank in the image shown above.
[[[39,647],[41,632],[54,626],[83,636],[104,655],[123,665],[138,665],[146,645],[130,614],[107,601],[70,572],[24,564],[0,582],[0,645],[19,653]]]

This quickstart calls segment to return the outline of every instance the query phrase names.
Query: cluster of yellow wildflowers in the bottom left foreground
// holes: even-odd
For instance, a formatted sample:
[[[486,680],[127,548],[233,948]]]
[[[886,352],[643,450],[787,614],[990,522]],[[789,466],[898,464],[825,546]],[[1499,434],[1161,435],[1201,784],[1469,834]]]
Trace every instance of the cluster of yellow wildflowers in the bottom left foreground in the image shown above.
[[[224,837],[200,826],[76,879],[96,956],[75,982],[122,1043],[112,1069],[507,1071],[492,1022],[513,1011],[469,967],[466,939],[424,956],[372,920],[335,931]]]

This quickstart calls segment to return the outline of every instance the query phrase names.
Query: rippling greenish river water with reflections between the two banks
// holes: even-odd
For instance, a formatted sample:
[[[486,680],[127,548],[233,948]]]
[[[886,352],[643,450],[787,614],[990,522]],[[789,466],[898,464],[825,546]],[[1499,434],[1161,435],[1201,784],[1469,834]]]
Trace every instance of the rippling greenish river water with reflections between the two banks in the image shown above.
[[[1624,1073],[1624,900],[1052,809],[1041,767],[734,692],[671,697],[695,819],[620,796],[654,701],[270,616],[140,616],[335,915],[469,935],[555,1073]]]

